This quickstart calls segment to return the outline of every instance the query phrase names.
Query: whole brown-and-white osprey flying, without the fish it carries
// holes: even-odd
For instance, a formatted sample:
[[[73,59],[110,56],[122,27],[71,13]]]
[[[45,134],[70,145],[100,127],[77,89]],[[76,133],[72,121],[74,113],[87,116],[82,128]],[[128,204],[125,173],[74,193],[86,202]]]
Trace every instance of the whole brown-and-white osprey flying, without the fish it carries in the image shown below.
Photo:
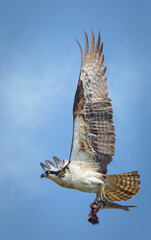
[[[103,43],[101,44],[99,33],[95,46],[93,31],[91,33],[89,51],[88,37],[84,32],[85,56],[77,41],[82,55],[82,66],[73,105],[74,126],[70,159],[62,163],[59,158],[53,157],[56,166],[49,160],[46,160],[47,166],[41,163],[45,171],[41,177],[49,178],[65,188],[96,193],[92,206],[96,206],[99,201],[105,206],[109,201],[128,200],[136,195],[140,189],[140,181],[137,180],[140,175],[137,171],[107,174],[107,167],[115,152],[116,135],[112,103],[107,91]]]

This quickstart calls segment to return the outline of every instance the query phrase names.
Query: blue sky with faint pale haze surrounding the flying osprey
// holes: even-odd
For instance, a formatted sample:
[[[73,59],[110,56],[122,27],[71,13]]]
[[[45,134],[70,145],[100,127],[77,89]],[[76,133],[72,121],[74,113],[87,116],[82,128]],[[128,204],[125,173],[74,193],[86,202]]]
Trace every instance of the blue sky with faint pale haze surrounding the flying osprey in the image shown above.
[[[150,233],[150,1],[0,1],[0,239],[142,239]],[[68,159],[81,56],[100,30],[116,155],[109,173],[139,170],[141,191],[87,223],[95,195],[40,179],[39,162]]]

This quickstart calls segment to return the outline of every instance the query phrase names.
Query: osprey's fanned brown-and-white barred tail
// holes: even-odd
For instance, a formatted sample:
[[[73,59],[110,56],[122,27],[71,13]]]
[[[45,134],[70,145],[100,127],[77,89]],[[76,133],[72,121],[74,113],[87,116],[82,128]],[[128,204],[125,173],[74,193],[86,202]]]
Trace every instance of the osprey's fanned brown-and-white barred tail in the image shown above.
[[[110,201],[121,201],[131,199],[136,195],[141,182],[137,179],[140,178],[138,171],[107,175],[105,192]]]

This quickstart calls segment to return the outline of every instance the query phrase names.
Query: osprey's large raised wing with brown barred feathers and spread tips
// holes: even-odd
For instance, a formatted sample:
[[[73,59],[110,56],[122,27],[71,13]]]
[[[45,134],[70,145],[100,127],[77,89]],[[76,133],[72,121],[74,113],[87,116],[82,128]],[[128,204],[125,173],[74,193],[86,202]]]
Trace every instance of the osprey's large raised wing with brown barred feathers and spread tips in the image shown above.
[[[85,33],[85,32],[84,32]],[[70,161],[78,161],[86,168],[107,173],[107,166],[112,161],[115,146],[115,128],[111,99],[108,98],[107,77],[104,76],[103,43],[100,44],[100,33],[94,49],[95,40],[88,53],[88,37],[85,33],[85,57],[82,55],[82,66],[73,106],[73,140]]]

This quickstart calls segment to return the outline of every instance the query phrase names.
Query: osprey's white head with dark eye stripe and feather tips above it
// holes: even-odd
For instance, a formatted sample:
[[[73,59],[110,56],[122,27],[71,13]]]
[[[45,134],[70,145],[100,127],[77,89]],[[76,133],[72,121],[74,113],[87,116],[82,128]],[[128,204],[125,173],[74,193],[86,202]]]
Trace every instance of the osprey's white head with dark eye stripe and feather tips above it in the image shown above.
[[[41,167],[44,169],[44,173],[41,174],[41,178],[49,178],[53,181],[55,181],[56,177],[58,176],[58,174],[63,170],[63,168],[65,168],[69,161],[68,160],[63,160],[62,161],[57,158],[57,157],[53,157],[56,166],[49,160],[46,160],[46,164],[44,163],[40,163]]]

